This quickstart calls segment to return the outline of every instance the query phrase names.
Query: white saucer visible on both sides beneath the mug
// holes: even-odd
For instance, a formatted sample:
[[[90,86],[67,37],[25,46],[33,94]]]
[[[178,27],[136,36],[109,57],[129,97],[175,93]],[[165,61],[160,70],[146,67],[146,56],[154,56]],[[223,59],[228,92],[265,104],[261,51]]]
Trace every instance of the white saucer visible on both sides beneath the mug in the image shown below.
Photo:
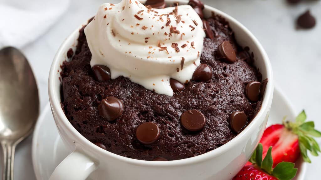
[[[282,118],[285,115],[289,119],[293,119],[296,116],[290,102],[279,89],[275,88],[268,126],[282,123]],[[56,166],[69,153],[70,151],[65,148],[58,134],[48,103],[40,115],[33,133],[32,162],[37,180],[48,180]],[[304,180],[306,163],[299,160],[296,166],[299,171],[294,180]]]

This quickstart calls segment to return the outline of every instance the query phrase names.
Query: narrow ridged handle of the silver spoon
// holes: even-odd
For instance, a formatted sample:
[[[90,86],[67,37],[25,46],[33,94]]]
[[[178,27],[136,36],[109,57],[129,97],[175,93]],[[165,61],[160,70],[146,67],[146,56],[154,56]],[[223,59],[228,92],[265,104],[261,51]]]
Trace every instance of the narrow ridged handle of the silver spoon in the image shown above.
[[[15,145],[9,142],[1,142],[3,149],[3,175],[2,180],[13,180],[13,163]]]

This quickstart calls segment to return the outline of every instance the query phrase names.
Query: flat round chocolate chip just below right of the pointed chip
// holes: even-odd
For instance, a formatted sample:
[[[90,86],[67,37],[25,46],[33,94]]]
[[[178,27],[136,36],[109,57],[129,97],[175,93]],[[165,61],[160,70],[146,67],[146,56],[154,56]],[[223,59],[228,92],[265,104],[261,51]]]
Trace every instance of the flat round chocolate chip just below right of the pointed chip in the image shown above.
[[[136,138],[142,144],[155,143],[160,137],[160,128],[152,122],[145,122],[136,129]]]

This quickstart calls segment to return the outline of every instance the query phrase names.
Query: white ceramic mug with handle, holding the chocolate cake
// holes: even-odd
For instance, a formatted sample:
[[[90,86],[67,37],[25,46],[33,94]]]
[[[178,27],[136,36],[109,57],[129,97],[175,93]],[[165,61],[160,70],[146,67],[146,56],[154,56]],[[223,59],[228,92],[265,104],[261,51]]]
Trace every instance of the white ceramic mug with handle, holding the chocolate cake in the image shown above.
[[[183,0],[167,0],[168,3]],[[65,61],[69,48],[75,50],[80,26],[60,46],[49,74],[49,100],[59,134],[70,150],[74,150],[55,169],[50,180],[229,180],[250,158],[259,143],[268,119],[273,97],[272,68],[265,50],[253,34],[231,16],[205,5],[204,16],[212,12],[230,23],[239,45],[248,46],[254,53],[254,64],[268,78],[261,110],[249,125],[230,142],[207,153],[173,161],[146,161],[126,158],[105,151],[84,138],[66,118],[60,102],[60,65]]]

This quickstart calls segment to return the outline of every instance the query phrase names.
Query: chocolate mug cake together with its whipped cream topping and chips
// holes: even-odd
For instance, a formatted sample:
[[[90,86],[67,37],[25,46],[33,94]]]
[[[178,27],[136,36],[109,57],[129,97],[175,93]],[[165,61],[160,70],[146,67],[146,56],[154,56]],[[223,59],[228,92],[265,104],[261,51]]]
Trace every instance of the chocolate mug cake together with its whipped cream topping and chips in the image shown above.
[[[255,117],[267,80],[253,54],[222,17],[188,4],[106,3],[80,29],[61,105],[85,138],[129,158],[178,160],[229,142]]]

